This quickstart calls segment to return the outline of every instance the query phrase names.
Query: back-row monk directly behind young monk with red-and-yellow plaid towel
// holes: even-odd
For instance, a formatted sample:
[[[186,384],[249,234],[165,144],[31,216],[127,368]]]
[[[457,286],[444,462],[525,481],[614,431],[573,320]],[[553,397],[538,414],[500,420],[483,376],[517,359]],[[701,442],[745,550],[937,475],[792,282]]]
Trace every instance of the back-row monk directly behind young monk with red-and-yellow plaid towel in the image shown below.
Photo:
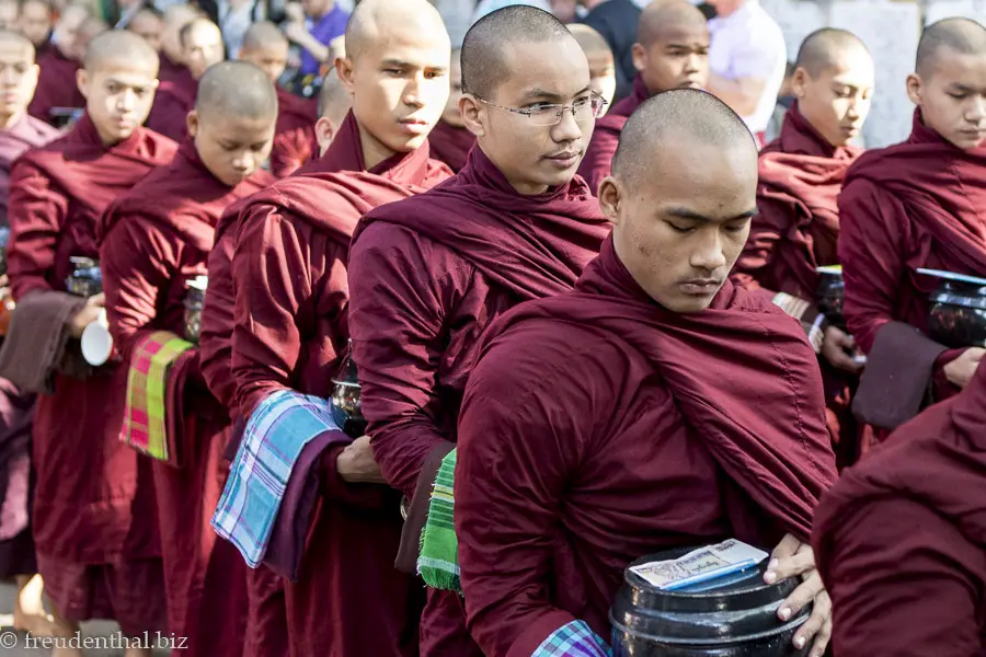
[[[162,82],[147,127],[175,141],[188,136],[187,116],[195,107],[198,79],[206,70],[226,58],[222,33],[208,19],[195,19],[181,31],[182,60],[192,81]]]

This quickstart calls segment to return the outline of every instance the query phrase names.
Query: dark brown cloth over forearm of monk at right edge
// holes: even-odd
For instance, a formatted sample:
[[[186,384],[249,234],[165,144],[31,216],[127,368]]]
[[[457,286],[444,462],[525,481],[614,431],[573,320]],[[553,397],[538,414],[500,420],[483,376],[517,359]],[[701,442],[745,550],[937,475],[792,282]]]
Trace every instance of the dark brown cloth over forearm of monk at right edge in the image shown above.
[[[910,324],[881,326],[852,402],[853,415],[881,429],[915,417],[928,400],[935,361],[945,350]]]

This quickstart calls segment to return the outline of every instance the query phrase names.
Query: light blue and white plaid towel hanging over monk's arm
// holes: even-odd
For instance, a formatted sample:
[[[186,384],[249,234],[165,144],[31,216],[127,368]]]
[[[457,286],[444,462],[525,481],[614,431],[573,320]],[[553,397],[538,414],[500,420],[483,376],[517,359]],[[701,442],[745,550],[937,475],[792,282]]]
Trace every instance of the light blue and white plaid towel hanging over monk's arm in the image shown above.
[[[323,431],[339,429],[329,402],[282,390],[256,407],[222,497],[213,516],[213,529],[237,546],[255,568],[264,558],[291,468],[301,449]]]

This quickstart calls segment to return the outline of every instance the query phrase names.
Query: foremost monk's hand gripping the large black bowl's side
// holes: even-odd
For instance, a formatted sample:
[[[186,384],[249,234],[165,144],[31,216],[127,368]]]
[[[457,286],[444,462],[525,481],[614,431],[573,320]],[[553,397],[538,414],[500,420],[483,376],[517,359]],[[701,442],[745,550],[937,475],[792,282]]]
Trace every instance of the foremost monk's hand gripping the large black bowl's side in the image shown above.
[[[773,549],[764,581],[773,584],[789,577],[801,577],[801,586],[794,589],[777,610],[780,620],[787,622],[796,616],[809,602],[814,602],[812,615],[794,634],[794,647],[799,650],[815,639],[810,657],[822,657],[832,639],[832,600],[815,569],[815,553],[809,543],[802,543],[791,534],[784,535]]]

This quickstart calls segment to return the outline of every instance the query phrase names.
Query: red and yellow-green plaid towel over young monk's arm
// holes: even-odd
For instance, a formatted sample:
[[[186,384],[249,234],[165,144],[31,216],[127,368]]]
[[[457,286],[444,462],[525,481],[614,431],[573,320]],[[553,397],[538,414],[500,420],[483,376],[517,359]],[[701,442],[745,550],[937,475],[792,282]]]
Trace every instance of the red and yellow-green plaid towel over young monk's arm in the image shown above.
[[[140,341],[127,373],[127,405],[119,439],[159,461],[176,463],[169,445],[165,390],[171,366],[194,345],[174,333],[156,331]]]

